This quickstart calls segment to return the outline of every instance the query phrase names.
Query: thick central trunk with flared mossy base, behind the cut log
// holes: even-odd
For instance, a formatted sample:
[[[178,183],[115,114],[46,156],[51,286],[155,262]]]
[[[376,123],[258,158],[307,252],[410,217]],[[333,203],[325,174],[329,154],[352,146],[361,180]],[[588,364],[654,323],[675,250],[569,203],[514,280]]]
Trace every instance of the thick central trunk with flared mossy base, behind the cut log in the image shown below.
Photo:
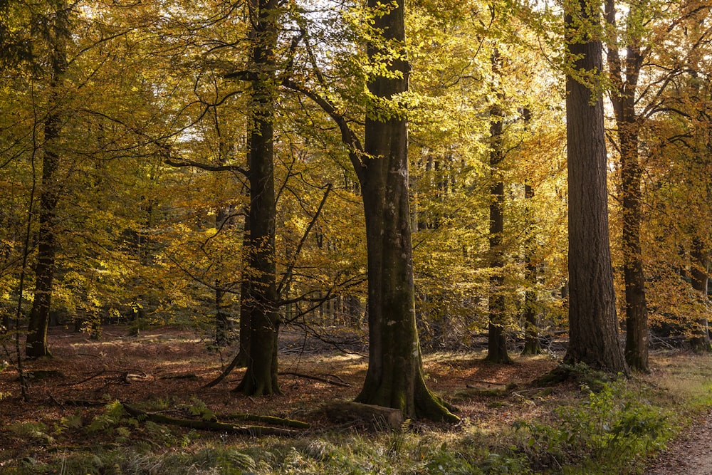
[[[370,9],[378,0],[368,0]],[[374,18],[387,41],[403,46],[404,2]],[[379,51],[368,46],[373,60]],[[389,68],[394,78],[376,77],[370,92],[382,100],[408,89],[409,64],[404,57]],[[377,106],[375,106],[377,107]],[[392,107],[392,106],[391,106]],[[426,387],[415,323],[413,252],[408,202],[407,120],[402,112],[384,109],[367,113],[365,152],[358,167],[363,191],[368,258],[369,365],[358,402],[401,409],[409,417],[458,420]]]

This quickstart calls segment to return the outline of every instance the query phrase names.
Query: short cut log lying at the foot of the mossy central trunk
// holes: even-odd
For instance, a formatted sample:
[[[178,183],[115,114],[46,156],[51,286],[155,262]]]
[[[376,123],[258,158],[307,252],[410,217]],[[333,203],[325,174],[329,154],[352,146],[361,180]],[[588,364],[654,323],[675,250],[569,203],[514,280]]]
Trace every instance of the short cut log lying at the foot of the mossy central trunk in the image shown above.
[[[403,427],[403,413],[392,407],[337,400],[324,404],[320,412],[337,424],[370,427],[377,431],[401,430]]]

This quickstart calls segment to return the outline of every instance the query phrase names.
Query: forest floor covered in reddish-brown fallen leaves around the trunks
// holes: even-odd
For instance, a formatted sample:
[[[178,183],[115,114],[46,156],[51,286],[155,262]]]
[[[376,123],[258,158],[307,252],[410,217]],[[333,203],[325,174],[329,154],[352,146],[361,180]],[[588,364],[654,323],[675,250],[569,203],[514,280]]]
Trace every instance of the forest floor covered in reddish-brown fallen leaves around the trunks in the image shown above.
[[[333,335],[341,331],[335,328]],[[114,436],[85,430],[99,420],[106,404],[115,400],[139,407],[147,403],[159,406],[162,413],[172,417],[194,417],[194,408],[206,407],[220,420],[236,413],[263,414],[308,422],[312,434],[338,430],[337,424],[315,409],[330,400],[353,400],[367,369],[364,348],[354,340],[345,344],[351,353],[344,353],[298,331],[285,330],[280,341],[283,374],[279,377],[284,394],[245,397],[231,392],[244,374],[242,369],[234,370],[215,387],[204,387],[229,363],[234,348],[211,349],[209,338],[194,330],[162,327],[144,330],[137,337],[127,333],[123,326],[106,326],[101,340],[91,340],[83,333],[52,328],[49,341],[53,357],[25,362],[30,376],[28,402],[21,400],[14,366],[0,372],[0,473],[4,473],[4,466],[19,460],[29,459],[34,464],[53,459],[58,451],[116,444]],[[11,348],[8,350],[11,352]],[[522,419],[536,421],[548,417],[558,400],[579,391],[577,383],[571,382],[557,385],[541,397],[530,392],[533,390],[528,384],[558,364],[554,355],[517,356],[512,365],[488,364],[483,361],[484,355],[424,356],[429,387],[460,409],[459,416],[467,427],[487,432],[512,427]],[[0,361],[4,358],[0,356]],[[709,465],[696,469],[702,471],[681,471],[676,468],[681,465],[675,465],[679,461],[693,467],[694,459],[712,460],[711,426],[712,415],[691,432],[705,434],[703,442],[708,445],[681,438],[656,461],[657,471],[647,473],[712,474]],[[412,429],[451,430],[424,422],[413,424]],[[33,443],[28,444],[28,438]]]

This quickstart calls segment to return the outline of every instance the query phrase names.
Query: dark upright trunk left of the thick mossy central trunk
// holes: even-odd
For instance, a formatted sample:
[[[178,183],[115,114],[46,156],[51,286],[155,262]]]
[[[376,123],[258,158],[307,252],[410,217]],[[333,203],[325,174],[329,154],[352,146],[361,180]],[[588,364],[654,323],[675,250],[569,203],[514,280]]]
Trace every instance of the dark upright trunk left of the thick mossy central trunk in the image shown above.
[[[246,395],[279,393],[277,382],[277,308],[275,267],[275,189],[273,120],[276,102],[275,49],[277,0],[251,0],[253,51],[251,66],[253,118],[249,137],[251,272],[248,307],[250,353],[247,371],[236,391]]]

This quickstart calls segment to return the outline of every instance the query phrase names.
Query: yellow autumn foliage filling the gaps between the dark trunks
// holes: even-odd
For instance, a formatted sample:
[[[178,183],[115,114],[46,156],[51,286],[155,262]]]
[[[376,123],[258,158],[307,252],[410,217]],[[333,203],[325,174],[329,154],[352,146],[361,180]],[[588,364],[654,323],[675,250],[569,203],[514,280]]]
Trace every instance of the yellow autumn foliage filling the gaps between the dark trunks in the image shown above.
[[[13,326],[21,276],[21,318],[33,301],[46,194],[54,201],[56,322],[98,337],[102,320],[209,326],[223,314],[238,318],[249,272],[242,249],[249,194],[235,170],[246,167],[251,96],[249,84],[226,71],[244,66],[250,51],[245,6],[6,1],[2,8],[4,326]],[[708,7],[617,8],[607,48],[641,56],[633,97],[651,325],[658,335],[691,335],[708,316],[693,279],[706,272],[710,221]],[[351,45],[365,41],[358,28],[365,14],[319,2],[281,9],[277,73],[328,98],[358,130],[370,65]],[[545,332],[565,328],[567,66],[557,7],[413,2],[407,33],[422,342],[467,345],[486,330],[495,294],[504,296],[511,335],[522,334],[528,308]],[[308,39],[290,48],[300,34]],[[54,71],[58,48],[64,63]],[[605,79],[607,95],[617,97],[614,78]],[[275,93],[275,260],[279,298],[288,302],[280,311],[286,322],[314,331],[325,320],[362,328],[358,181],[333,120],[303,94],[278,86]],[[493,108],[503,118],[494,165]],[[610,245],[624,315],[613,113],[607,108]],[[48,137],[48,120],[57,122],[58,137]],[[191,162],[223,171],[173,166]],[[504,185],[503,260],[493,267],[489,212],[497,182]],[[491,285],[494,274],[501,285]]]

